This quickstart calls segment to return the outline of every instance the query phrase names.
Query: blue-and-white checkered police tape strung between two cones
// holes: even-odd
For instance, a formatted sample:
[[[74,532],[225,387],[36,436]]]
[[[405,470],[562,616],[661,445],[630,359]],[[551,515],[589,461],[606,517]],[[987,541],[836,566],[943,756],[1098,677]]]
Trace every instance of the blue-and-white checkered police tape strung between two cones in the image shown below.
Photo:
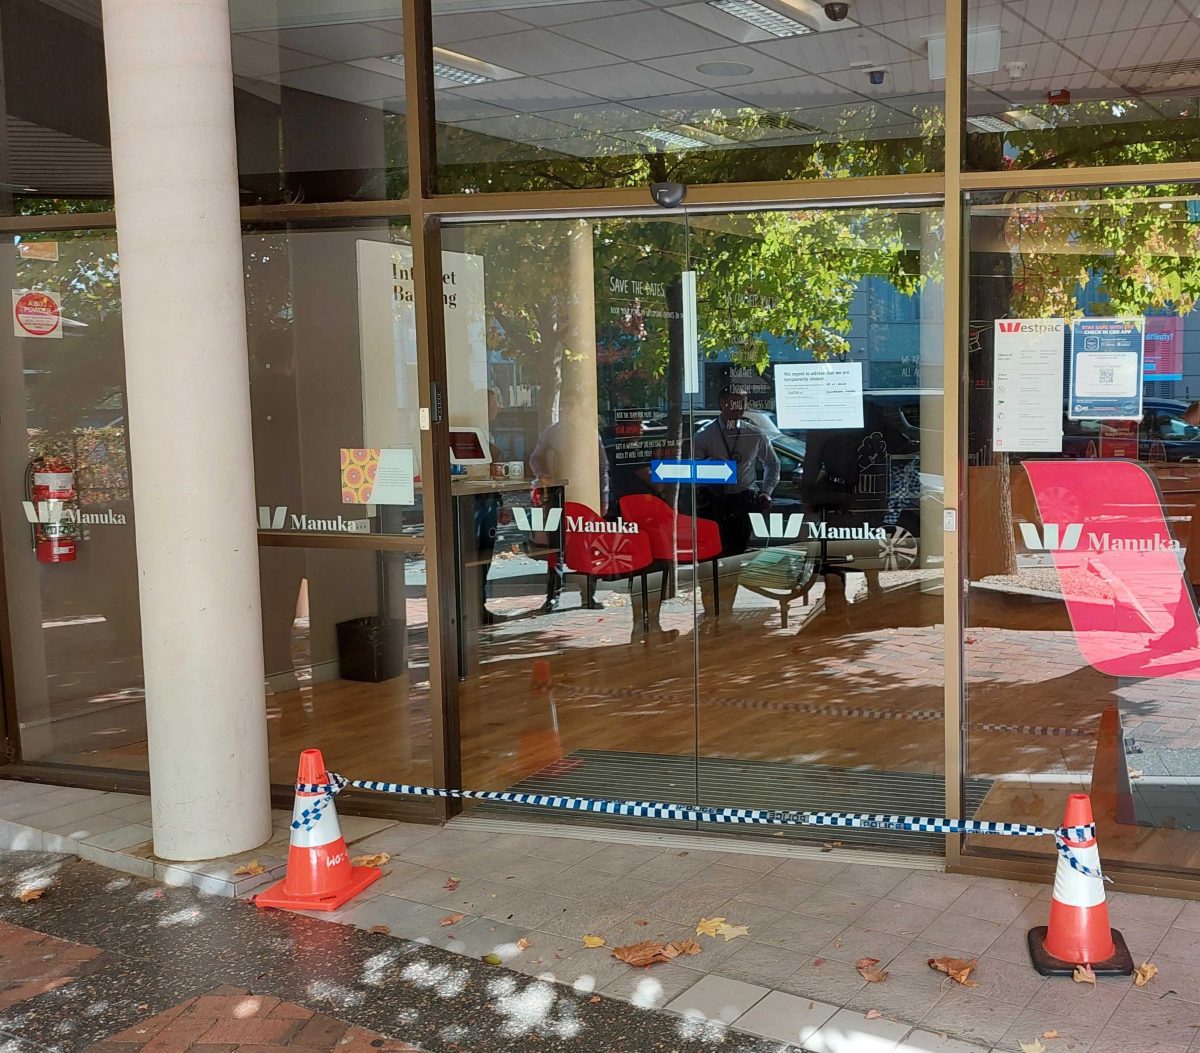
[[[503,801],[539,808],[563,808],[598,816],[628,816],[637,819],[679,819],[692,823],[769,826],[833,826],[853,830],[911,830],[925,834],[998,834],[1008,837],[1052,837],[1055,848],[1073,870],[1090,878],[1103,878],[1100,871],[1080,862],[1068,842],[1091,841],[1096,824],[1087,826],[1033,826],[1027,823],[1000,823],[989,819],[947,819],[932,816],[888,816],[863,812],[782,812],[767,808],[716,808],[703,805],[673,805],[662,801],[611,801],[596,798],[566,798],[554,794],[527,794],[520,790],[455,790],[404,782],[376,782],[346,778],[326,772],[328,783],[296,783],[296,793],[318,794],[307,807],[296,810],[294,830],[311,830],[337,794],[343,789],[402,794],[418,798],[457,798],[475,801]],[[299,801],[298,801],[299,804]]]

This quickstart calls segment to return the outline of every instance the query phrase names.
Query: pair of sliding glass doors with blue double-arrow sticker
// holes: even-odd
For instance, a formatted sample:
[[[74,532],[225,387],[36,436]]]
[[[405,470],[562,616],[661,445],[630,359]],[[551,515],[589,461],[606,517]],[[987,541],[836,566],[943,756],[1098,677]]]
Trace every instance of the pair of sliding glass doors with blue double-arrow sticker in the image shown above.
[[[941,211],[443,248],[464,784],[938,813]]]

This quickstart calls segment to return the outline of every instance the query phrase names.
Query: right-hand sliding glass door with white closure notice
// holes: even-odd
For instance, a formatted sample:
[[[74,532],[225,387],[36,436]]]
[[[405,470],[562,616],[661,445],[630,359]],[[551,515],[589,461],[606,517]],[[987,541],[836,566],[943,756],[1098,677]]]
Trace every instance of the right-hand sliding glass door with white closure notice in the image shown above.
[[[941,216],[691,219],[702,805],[944,813]]]

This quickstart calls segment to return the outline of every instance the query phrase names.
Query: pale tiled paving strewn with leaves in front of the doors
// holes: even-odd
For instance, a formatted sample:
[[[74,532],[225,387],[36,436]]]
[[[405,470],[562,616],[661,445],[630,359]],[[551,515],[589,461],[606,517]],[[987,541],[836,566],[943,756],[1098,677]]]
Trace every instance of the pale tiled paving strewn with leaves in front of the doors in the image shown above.
[[[578,829],[512,829],[389,824],[353,849],[389,853],[383,879],[320,920],[436,951],[430,988],[446,982],[454,956],[474,968],[496,955],[514,992],[550,989],[545,980],[588,1005],[599,997],[635,1012],[664,1010],[649,1016],[676,1021],[677,1037],[719,1036],[726,1049],[748,1033],[814,1053],[1018,1053],[1034,1040],[1050,1053],[1200,1053],[1200,903],[1112,895],[1114,923],[1135,958],[1154,962],[1159,974],[1146,988],[1123,979],[1092,988],[1042,979],[1028,965],[1026,931],[1049,910],[1042,885],[950,876],[916,860],[869,866],[841,850],[778,858],[691,841],[614,843]],[[749,932],[728,941],[700,937],[701,916]],[[584,934],[604,937],[605,947],[584,947]],[[685,937],[698,939],[701,953],[649,969],[610,953]],[[940,955],[977,957],[978,986],[958,987],[929,969]],[[880,959],[883,983],[858,974],[863,957]]]

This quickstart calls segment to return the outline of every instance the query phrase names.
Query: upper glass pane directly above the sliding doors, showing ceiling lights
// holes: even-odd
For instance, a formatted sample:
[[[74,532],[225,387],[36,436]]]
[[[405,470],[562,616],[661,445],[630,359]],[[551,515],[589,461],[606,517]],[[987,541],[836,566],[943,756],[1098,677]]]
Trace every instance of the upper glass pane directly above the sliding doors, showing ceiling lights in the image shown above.
[[[853,4],[832,22],[806,0],[433,11],[443,193],[942,168],[930,12]]]

